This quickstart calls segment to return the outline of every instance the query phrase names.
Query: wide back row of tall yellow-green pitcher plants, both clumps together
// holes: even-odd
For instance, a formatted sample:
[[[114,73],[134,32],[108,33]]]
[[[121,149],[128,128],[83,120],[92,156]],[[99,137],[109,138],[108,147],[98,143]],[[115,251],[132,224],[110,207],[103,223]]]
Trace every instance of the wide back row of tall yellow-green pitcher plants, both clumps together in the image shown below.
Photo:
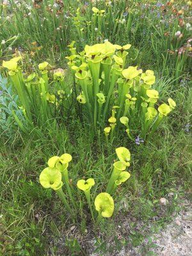
[[[68,45],[71,55],[66,58],[74,77],[77,103],[83,106],[86,122],[93,125],[95,132],[102,129],[107,141],[110,134],[111,143],[121,127],[125,127],[127,138],[132,141],[138,134],[144,140],[147,135],[150,138],[176,106],[170,98],[168,104],[159,104],[159,92],[152,88],[156,82],[154,72],[144,72],[137,66],[126,68],[130,44],[121,46],[106,41],[86,45],[79,54],[74,44],[73,41]],[[49,63],[46,61],[38,65],[38,74],[34,72],[24,78],[19,61],[20,56],[3,61],[19,95],[28,126],[13,111],[16,122],[24,132],[46,125],[56,129],[64,119],[65,106],[72,102],[72,86],[65,83],[61,71],[48,76]]]

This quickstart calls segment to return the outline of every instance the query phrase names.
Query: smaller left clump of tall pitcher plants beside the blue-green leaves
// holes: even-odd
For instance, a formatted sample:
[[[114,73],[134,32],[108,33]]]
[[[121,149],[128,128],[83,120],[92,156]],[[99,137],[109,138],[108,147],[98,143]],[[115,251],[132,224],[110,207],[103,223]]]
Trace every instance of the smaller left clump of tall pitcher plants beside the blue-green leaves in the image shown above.
[[[56,70],[52,81],[48,76],[49,63],[44,61],[38,65],[38,72],[24,77],[20,56],[9,61],[3,61],[3,67],[8,70],[13,88],[19,95],[20,108],[26,123],[19,120],[14,111],[15,121],[23,132],[31,132],[35,127],[52,125],[56,129],[56,121],[65,113],[66,98],[70,96],[70,89],[64,82],[64,74]],[[50,93],[51,87],[54,93]]]

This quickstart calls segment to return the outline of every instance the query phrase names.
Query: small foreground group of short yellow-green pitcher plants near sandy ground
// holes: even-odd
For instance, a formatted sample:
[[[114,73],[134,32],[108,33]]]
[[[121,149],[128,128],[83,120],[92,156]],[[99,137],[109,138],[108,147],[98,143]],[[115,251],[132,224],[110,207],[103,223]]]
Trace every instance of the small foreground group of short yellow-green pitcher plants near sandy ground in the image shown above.
[[[77,188],[84,193],[95,224],[98,224],[102,218],[110,218],[113,215],[115,206],[112,195],[115,194],[118,186],[131,176],[126,171],[127,167],[130,166],[131,154],[129,150],[125,147],[116,148],[116,155],[118,161],[113,163],[113,170],[107,177],[108,184],[106,189],[104,192],[99,193],[95,199],[91,193],[91,189],[95,185],[94,179],[88,177],[88,179],[79,179],[76,183]],[[56,191],[72,220],[77,223],[80,209],[76,200],[76,188],[70,182],[68,175],[70,161],[72,161],[72,156],[67,153],[61,156],[52,156],[47,163],[48,167],[40,173],[40,184],[44,188],[52,188]],[[95,207],[93,207],[93,199]]]

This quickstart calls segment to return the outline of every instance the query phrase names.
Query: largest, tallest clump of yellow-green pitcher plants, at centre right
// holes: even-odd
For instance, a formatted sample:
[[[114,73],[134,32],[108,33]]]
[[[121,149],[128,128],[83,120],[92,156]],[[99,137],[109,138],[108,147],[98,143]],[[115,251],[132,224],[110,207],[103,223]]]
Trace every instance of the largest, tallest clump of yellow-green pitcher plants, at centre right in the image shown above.
[[[120,46],[106,41],[86,45],[77,54],[74,43],[68,45],[71,55],[66,58],[76,79],[77,101],[84,105],[88,122],[95,130],[104,129],[107,140],[110,134],[110,141],[120,124],[131,140],[138,131],[144,139],[147,134],[152,136],[176,106],[173,99],[159,105],[159,92],[152,88],[156,82],[154,71],[144,72],[137,66],[125,68],[130,44]]]

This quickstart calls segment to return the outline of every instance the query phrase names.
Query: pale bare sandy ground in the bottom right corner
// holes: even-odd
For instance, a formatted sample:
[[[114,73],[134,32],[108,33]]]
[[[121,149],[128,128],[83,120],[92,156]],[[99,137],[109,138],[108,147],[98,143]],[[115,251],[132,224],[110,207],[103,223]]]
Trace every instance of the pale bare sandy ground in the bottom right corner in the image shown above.
[[[155,244],[154,248],[147,247],[148,239],[137,247],[131,244],[123,248],[115,256],[192,256],[192,207],[186,200],[182,210],[170,224],[158,234],[153,234],[150,239]],[[147,251],[142,247],[148,248]],[[144,251],[144,252],[143,252]],[[90,256],[99,256],[97,253],[90,253]],[[105,256],[111,256],[107,253]]]

